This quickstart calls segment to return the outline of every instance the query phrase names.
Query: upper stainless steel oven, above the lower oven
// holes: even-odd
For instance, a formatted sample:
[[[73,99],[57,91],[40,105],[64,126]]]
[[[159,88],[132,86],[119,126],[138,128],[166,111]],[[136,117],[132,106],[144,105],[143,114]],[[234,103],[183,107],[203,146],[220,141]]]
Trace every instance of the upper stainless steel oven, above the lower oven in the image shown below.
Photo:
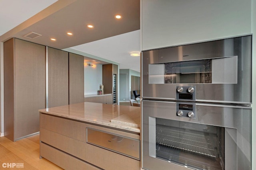
[[[252,36],[142,52],[142,97],[177,100],[195,86],[196,102],[251,104]]]

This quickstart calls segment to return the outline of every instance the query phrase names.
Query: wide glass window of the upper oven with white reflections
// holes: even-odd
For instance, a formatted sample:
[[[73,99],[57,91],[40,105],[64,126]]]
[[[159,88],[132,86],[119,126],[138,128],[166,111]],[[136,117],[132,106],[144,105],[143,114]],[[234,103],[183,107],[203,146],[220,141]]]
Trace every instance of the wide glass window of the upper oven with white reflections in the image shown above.
[[[237,56],[148,65],[149,84],[236,84]]]

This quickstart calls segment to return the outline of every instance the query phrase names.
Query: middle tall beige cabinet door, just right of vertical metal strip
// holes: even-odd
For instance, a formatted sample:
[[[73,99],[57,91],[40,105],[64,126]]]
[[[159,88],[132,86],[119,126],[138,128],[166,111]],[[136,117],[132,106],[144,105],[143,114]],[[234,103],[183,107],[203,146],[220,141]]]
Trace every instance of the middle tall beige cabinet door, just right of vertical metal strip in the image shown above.
[[[48,107],[68,105],[68,52],[48,47]]]

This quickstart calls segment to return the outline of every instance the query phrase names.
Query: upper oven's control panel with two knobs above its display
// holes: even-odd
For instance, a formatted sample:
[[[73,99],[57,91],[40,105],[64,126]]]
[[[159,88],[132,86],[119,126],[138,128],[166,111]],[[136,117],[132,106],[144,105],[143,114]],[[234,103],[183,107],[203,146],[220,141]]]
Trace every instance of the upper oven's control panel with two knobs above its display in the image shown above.
[[[176,100],[196,101],[196,86],[177,86]]]

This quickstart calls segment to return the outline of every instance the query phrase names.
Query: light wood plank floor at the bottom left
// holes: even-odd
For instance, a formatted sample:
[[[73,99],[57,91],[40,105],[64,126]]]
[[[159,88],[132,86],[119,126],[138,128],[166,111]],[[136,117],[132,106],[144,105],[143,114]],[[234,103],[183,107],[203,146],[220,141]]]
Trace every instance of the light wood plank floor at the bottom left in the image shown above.
[[[3,168],[3,163],[24,163],[21,170],[62,170],[59,166],[39,158],[39,133],[12,142],[6,137],[0,137],[0,170],[17,169]]]

